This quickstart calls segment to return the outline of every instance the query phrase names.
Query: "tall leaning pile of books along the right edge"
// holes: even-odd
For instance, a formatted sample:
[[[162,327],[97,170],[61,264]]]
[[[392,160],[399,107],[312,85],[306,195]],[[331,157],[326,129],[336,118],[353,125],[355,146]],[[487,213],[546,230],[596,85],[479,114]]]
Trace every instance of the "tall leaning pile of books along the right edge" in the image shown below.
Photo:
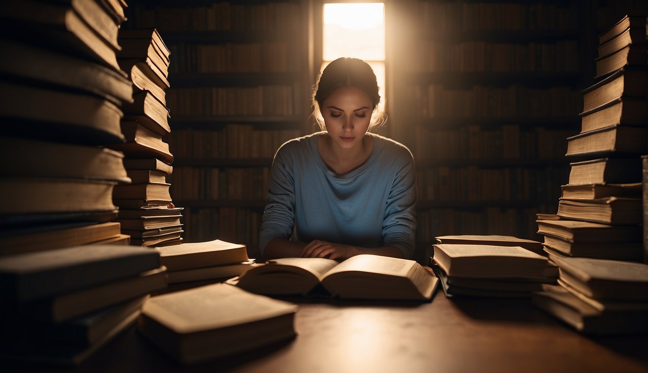
[[[533,301],[582,332],[647,329],[628,322],[637,321],[636,317],[645,321],[648,298],[624,297],[629,291],[625,288],[648,283],[648,266],[634,263],[644,260],[641,155],[648,152],[646,25],[645,16],[626,16],[599,36],[599,81],[583,90],[581,133],[567,139],[566,155],[577,162],[570,163],[557,216],[537,221],[544,250],[560,268],[560,286],[536,293]],[[583,286],[586,281],[592,281],[592,286],[612,283],[618,292],[600,295]]]

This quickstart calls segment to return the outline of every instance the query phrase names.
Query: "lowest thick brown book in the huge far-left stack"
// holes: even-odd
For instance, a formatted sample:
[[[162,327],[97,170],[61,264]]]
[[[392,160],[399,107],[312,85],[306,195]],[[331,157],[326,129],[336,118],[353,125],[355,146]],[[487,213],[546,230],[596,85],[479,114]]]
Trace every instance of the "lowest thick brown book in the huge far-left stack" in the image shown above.
[[[62,247],[86,245],[113,238],[120,234],[120,225],[113,221],[62,227],[38,231],[35,229],[16,229],[16,234],[0,235],[0,255],[30,253],[60,249]]]

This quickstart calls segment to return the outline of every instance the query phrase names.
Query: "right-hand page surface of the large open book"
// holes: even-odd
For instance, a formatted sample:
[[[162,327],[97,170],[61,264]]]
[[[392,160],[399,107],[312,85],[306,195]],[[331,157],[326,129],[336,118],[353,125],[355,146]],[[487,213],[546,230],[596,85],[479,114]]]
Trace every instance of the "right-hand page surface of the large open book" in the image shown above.
[[[407,277],[413,260],[391,258],[380,255],[356,255],[338,264],[326,276],[345,271],[381,273],[383,275]]]

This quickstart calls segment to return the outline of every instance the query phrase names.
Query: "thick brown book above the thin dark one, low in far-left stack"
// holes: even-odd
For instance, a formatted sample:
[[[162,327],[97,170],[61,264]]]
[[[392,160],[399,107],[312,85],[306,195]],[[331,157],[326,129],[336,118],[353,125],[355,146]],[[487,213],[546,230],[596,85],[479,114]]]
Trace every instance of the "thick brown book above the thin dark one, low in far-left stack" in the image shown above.
[[[111,181],[82,179],[0,179],[5,198],[0,215],[112,211],[115,186]]]

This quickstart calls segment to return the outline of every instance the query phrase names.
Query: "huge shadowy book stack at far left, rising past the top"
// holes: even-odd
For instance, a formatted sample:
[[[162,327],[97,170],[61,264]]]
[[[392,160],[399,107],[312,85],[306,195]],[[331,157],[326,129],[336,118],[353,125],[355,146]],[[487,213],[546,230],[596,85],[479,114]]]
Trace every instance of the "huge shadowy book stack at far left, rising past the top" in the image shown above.
[[[117,64],[117,1],[21,1],[0,15],[0,254],[128,244],[112,201],[130,183],[121,106],[132,87]]]

